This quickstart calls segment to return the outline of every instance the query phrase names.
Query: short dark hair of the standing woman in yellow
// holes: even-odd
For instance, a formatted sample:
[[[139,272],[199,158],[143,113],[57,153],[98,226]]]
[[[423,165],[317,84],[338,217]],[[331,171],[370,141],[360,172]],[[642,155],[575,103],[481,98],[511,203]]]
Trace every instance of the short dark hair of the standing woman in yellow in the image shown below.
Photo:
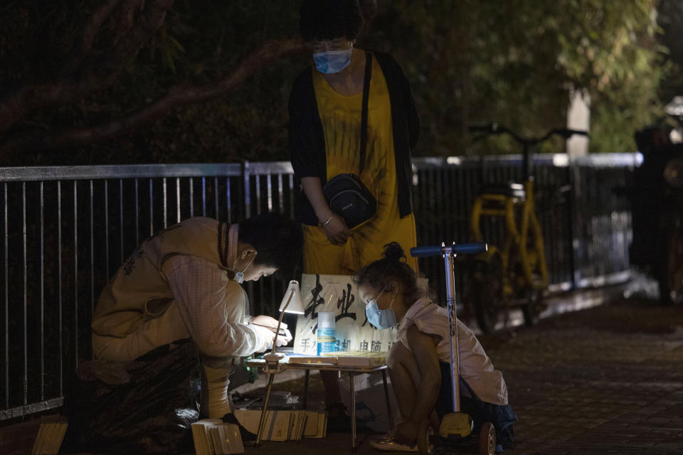
[[[353,41],[363,28],[358,0],[303,0],[299,30],[305,41],[331,41],[346,37]]]

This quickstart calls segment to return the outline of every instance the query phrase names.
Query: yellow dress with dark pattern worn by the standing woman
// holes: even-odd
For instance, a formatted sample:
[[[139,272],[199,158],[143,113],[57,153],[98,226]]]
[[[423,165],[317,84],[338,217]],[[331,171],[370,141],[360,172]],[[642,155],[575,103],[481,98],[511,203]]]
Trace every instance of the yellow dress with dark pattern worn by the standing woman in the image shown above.
[[[322,121],[327,161],[327,180],[339,173],[359,172],[362,92],[339,95],[322,74],[313,70],[313,86]],[[304,272],[349,275],[370,262],[381,259],[384,245],[396,241],[406,252],[406,262],[418,270],[410,257],[415,246],[415,217],[398,212],[398,186],[393,150],[391,102],[386,80],[377,60],[372,59],[368,102],[366,163],[361,181],[377,199],[377,213],[353,230],[344,245],[332,245],[319,226],[303,225]]]

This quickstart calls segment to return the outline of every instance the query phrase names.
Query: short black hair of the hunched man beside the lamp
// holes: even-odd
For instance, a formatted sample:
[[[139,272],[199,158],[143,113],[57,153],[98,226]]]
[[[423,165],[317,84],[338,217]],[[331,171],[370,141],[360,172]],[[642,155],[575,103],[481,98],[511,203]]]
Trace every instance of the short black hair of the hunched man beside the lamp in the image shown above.
[[[240,221],[238,239],[253,246],[254,263],[291,274],[301,259],[304,237],[300,223],[279,213],[263,213]]]

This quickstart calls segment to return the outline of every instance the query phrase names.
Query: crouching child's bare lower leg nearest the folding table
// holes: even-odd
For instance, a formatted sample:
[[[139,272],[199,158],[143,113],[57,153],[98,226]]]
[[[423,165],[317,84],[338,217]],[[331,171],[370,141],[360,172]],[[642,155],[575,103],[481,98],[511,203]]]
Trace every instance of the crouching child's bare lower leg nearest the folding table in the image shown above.
[[[415,397],[420,385],[420,371],[415,363],[415,357],[403,344],[395,343],[386,356],[386,365],[398,402],[398,410],[403,420],[409,420],[415,409]]]

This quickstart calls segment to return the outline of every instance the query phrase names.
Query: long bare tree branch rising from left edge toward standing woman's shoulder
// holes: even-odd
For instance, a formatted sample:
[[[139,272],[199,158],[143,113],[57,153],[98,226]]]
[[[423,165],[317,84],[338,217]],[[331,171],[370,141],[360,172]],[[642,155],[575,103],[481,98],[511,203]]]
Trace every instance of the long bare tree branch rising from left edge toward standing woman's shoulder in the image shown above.
[[[43,137],[35,137],[33,134],[30,137],[26,135],[16,137],[0,146],[0,155],[9,158],[22,151],[65,149],[120,137],[122,134],[129,133],[144,124],[164,117],[176,107],[226,95],[248,77],[258,73],[265,64],[278,60],[287,54],[303,51],[305,48],[305,42],[301,38],[266,41],[249,53],[244,60],[216,84],[203,87],[175,85],[169,89],[164,97],[147,107],[139,109],[127,117],[111,120],[95,127],[74,128]]]

